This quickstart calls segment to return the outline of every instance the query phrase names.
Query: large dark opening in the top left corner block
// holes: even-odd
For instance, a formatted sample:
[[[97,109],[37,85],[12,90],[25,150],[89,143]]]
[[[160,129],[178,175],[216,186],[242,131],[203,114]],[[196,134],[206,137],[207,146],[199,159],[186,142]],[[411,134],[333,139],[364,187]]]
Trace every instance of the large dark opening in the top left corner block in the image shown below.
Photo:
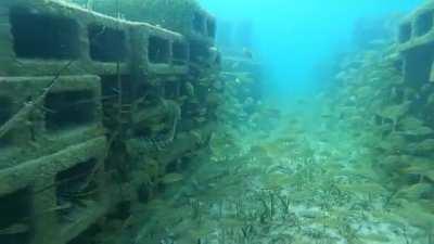
[[[78,24],[74,20],[14,8],[10,23],[17,57],[73,60],[80,54]]]

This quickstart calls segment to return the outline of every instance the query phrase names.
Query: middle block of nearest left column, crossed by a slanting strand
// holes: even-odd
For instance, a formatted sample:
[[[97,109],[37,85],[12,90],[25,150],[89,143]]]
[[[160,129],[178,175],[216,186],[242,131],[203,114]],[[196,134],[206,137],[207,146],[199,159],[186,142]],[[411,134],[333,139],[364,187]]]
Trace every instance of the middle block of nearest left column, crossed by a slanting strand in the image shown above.
[[[97,76],[0,77],[0,124],[55,86],[25,119],[0,139],[0,169],[104,134]]]

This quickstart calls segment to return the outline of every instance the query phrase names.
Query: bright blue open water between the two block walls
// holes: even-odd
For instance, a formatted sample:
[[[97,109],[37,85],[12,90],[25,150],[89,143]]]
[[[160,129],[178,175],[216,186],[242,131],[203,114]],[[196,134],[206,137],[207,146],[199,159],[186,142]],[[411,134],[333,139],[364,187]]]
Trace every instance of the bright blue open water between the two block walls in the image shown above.
[[[327,70],[332,57],[355,48],[357,22],[407,13],[421,2],[202,0],[218,20],[253,23],[253,52],[265,67],[265,92],[281,102],[321,87],[321,67]]]

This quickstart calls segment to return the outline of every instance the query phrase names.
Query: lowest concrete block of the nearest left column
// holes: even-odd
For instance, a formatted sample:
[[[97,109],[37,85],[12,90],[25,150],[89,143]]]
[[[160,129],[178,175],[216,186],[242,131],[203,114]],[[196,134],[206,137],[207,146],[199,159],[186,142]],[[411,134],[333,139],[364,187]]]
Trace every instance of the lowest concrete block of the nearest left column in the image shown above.
[[[31,236],[15,236],[23,244],[66,243],[78,235],[112,206],[104,189],[110,187],[104,184],[106,150],[101,137],[1,170],[0,198],[5,201],[0,204],[21,207],[0,223],[28,224]]]

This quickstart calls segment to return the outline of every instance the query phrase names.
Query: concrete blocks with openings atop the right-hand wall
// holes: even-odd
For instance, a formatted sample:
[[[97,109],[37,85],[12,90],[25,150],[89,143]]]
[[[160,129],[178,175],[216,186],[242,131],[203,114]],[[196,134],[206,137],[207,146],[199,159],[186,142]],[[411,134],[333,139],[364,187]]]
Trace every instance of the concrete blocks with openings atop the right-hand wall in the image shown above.
[[[398,48],[404,57],[406,81],[423,86],[434,81],[434,2],[430,1],[400,24]]]

